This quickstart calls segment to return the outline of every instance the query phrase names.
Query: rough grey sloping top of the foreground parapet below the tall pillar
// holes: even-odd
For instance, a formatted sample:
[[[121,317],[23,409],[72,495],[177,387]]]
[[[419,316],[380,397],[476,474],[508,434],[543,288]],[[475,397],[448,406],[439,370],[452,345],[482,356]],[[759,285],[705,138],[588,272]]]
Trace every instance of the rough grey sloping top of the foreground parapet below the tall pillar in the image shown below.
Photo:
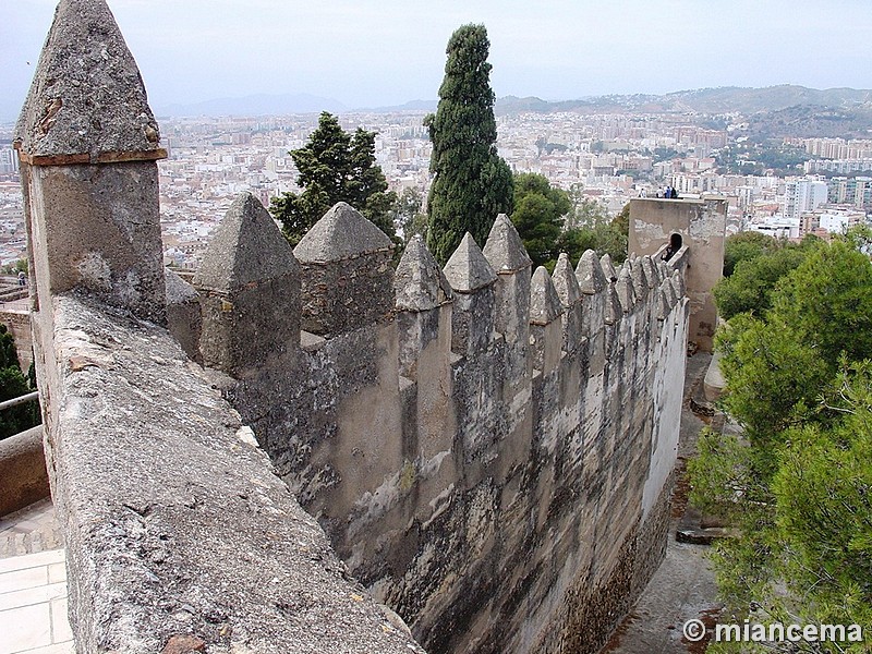
[[[191,633],[209,652],[422,651],[344,579],[166,331],[71,298],[53,310],[40,384],[78,651],[172,651]]]

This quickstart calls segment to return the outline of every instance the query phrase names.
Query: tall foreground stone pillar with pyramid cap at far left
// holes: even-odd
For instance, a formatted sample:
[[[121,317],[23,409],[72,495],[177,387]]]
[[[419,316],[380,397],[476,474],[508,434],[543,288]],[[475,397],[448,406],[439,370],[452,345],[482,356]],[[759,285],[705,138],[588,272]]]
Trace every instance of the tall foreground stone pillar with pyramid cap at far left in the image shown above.
[[[36,306],[77,290],[166,324],[156,160],[167,153],[102,0],[60,2],[15,148]]]

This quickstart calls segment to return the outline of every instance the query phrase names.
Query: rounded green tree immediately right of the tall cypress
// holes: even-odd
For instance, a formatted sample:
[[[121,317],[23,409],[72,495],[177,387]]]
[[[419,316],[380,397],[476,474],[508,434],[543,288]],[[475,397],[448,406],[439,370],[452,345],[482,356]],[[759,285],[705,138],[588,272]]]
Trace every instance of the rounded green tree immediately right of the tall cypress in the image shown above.
[[[560,254],[564,216],[572,208],[566,191],[553,187],[536,173],[514,175],[514,211],[511,220],[524,243],[533,267],[550,264]]]

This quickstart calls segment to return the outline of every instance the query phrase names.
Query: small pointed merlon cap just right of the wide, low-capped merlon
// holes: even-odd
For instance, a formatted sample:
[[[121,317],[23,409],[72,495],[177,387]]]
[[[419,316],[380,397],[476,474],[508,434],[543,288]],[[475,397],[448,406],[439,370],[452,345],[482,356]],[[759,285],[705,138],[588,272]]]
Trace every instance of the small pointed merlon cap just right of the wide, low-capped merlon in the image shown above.
[[[393,276],[397,308],[427,311],[452,298],[451,287],[420,234],[405,246]]]

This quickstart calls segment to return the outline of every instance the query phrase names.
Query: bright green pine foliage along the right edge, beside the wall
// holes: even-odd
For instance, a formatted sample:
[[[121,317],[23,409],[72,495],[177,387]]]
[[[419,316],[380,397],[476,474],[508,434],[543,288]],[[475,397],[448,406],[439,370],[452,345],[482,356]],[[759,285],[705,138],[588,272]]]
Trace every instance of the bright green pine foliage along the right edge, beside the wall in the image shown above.
[[[691,500],[740,534],[713,558],[736,620],[872,625],[872,264],[857,244],[794,249],[768,308],[717,336],[744,432],[704,434],[689,468]]]

